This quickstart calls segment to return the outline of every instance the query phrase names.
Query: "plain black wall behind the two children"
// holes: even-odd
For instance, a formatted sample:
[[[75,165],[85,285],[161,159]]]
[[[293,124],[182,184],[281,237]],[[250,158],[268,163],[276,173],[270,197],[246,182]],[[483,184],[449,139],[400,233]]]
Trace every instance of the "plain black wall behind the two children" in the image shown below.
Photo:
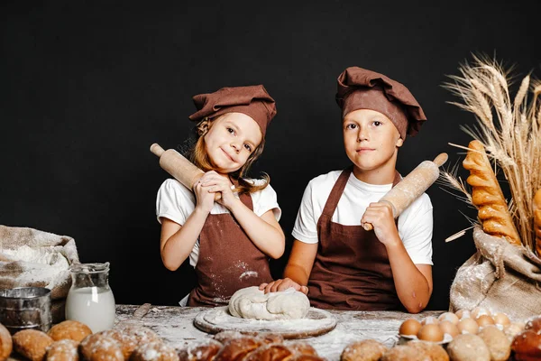
[[[252,176],[271,175],[287,235],[307,182],[348,165],[335,79],[361,66],[404,83],[428,121],[399,152],[407,174],[448,143],[471,139],[470,113],[442,84],[472,53],[515,65],[516,83],[541,74],[537,1],[205,1],[4,3],[0,11],[0,224],[72,236],[82,262],[111,263],[117,303],[174,305],[193,285],[185,263],[160,261],[156,192],[168,175],[151,143],[188,139],[191,97],[264,84],[278,116]],[[174,4],[174,5],[173,5]],[[515,87],[516,89],[516,84]],[[462,170],[463,173],[463,170]],[[434,294],[446,309],[456,268],[473,252],[460,213],[475,213],[438,186],[434,205]],[[241,252],[241,250],[239,250]]]

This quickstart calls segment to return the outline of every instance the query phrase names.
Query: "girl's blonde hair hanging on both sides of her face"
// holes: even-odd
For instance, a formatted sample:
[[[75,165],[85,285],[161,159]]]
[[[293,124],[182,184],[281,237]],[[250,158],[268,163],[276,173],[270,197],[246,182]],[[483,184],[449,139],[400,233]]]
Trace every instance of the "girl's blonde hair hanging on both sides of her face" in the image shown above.
[[[222,116],[218,116],[216,118],[203,118],[199,123],[196,125],[196,136],[197,141],[196,144],[191,148],[191,151],[189,153],[190,161],[197,165],[201,170],[203,171],[213,171],[214,167],[211,164],[210,160],[208,159],[208,155],[206,154],[205,150],[205,135],[208,133],[212,125],[214,124],[215,120],[219,119]],[[243,177],[247,174],[248,170],[252,166],[252,163],[255,162],[255,160],[263,153],[263,148],[265,146],[265,138],[262,138],[261,143],[255,148],[255,150],[250,154],[248,157],[248,160],[244,163],[244,165],[239,169],[238,171],[234,171],[232,173],[229,173],[230,178],[233,180],[238,181],[238,186],[236,187],[235,191],[238,191],[239,194],[249,194],[254,193],[259,190],[265,189],[269,183],[271,182],[271,178],[269,177],[269,174],[262,173],[261,179],[264,180],[262,184],[260,185],[254,185],[249,181],[246,181],[243,179]]]

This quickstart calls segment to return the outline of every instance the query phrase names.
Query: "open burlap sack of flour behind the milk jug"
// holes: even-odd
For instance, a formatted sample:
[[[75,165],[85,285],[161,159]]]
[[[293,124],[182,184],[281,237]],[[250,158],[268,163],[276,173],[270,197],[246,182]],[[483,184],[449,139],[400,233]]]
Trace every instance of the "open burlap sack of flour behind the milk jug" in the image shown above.
[[[64,319],[71,286],[69,266],[73,263],[78,263],[73,238],[0,225],[0,289],[49,288],[53,323]]]

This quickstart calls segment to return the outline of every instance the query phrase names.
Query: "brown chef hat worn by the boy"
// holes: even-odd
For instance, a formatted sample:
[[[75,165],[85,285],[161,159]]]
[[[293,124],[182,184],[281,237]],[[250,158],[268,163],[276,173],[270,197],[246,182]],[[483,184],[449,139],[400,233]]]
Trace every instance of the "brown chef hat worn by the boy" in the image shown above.
[[[371,109],[387,116],[402,139],[415,135],[426,121],[425,113],[408,88],[375,71],[350,67],[338,77],[336,103],[342,118],[353,110]]]

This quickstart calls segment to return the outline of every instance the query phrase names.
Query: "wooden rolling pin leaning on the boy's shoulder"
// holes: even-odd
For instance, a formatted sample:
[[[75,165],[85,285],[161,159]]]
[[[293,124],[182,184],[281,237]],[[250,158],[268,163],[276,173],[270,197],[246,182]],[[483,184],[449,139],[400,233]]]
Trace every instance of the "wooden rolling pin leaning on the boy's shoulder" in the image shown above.
[[[447,162],[447,153],[439,154],[434,162],[425,161],[417,165],[417,168],[411,171],[403,180],[394,186],[380,202],[387,202],[392,208],[393,218],[408,208],[415,199],[425,192],[439,177],[439,167]],[[371,223],[362,225],[367,231],[373,229]]]

